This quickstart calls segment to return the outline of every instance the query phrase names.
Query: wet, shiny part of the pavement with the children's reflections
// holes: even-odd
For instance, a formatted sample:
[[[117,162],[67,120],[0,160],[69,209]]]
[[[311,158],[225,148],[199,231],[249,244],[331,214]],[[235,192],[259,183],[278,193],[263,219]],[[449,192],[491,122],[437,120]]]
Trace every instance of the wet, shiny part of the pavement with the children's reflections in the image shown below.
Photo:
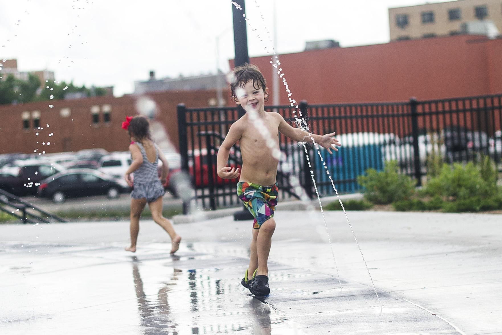
[[[176,256],[163,243],[134,256],[111,245],[2,244],[0,333],[457,333],[385,292],[381,311],[372,288],[340,287],[322,267],[306,266],[310,258],[276,245],[276,259],[293,260],[270,264],[271,294],[258,299],[240,285],[248,250],[238,243],[183,244]]]

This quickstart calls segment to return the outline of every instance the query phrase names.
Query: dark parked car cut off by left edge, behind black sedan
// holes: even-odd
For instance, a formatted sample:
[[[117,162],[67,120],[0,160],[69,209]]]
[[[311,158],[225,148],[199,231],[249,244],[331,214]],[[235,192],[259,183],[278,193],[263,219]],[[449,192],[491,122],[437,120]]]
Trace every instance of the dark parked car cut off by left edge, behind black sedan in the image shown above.
[[[17,196],[37,194],[40,181],[63,171],[66,171],[64,166],[50,161],[16,160],[0,170],[0,188]]]

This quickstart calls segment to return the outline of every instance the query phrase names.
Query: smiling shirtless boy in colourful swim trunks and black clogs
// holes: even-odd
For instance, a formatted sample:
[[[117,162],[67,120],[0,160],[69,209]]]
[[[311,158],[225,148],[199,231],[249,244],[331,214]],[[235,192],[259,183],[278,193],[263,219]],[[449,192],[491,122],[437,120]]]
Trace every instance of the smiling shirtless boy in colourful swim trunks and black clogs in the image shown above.
[[[232,124],[219,148],[218,176],[224,179],[239,176],[238,168],[230,169],[226,166],[230,148],[239,141],[242,171],[237,184],[237,195],[255,217],[249,267],[241,283],[255,295],[268,295],[270,288],[267,262],[272,234],[276,228],[274,210],[278,200],[276,175],[279,159],[276,153],[279,149],[279,132],[295,141],[312,142],[313,138],[329,153],[332,153],[331,149],[337,151],[335,146],[340,143],[331,137],[335,133],[309,134],[290,126],[279,113],[265,112],[269,89],[256,65],[235,67],[232,74],[232,99],[242,106],[246,114]],[[264,128],[257,129],[257,126]]]

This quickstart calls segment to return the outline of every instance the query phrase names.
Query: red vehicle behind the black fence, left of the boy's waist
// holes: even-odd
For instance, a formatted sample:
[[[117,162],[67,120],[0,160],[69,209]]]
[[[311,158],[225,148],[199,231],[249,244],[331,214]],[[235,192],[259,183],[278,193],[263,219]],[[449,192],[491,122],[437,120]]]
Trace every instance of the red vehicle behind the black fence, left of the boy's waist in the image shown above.
[[[216,181],[216,185],[228,185],[228,184],[236,184],[238,182],[238,178],[235,179],[222,179],[218,176],[216,171],[216,155],[217,152],[214,149],[211,149],[211,157],[207,154],[207,149],[196,149],[188,152],[188,168],[190,175],[193,176],[193,180],[195,182],[196,188],[207,187],[209,186],[209,166],[208,161],[211,158],[211,163],[213,166],[213,181]],[[233,149],[230,151],[230,157],[234,156]],[[192,159],[193,157],[193,159]],[[229,164],[227,166],[237,167],[240,169],[240,165],[232,163],[229,159]]]

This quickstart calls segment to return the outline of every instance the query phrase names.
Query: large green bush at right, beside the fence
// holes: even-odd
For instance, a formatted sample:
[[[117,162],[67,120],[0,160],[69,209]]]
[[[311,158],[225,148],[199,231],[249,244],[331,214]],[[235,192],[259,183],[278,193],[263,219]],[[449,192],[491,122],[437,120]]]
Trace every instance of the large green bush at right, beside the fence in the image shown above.
[[[488,198],[495,196],[498,190],[488,167],[483,170],[469,162],[465,165],[443,165],[440,174],[429,180],[425,192],[431,196],[438,195],[455,201]]]

